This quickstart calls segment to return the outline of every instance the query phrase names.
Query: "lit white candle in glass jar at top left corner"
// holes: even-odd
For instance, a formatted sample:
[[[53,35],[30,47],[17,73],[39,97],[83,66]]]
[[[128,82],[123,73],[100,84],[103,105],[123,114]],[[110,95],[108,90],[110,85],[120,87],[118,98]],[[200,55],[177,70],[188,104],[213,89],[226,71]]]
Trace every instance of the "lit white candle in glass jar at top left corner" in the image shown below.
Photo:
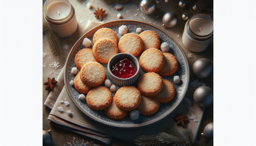
[[[47,0],[44,4],[44,19],[60,37],[69,36],[77,29],[76,14],[68,0]]]

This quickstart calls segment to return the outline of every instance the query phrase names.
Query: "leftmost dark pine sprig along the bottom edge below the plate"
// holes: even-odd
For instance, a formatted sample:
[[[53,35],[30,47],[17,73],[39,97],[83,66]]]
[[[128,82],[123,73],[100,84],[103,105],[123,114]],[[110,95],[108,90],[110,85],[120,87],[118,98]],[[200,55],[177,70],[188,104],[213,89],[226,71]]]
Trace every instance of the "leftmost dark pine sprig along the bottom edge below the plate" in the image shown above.
[[[161,142],[158,141],[157,135],[141,135],[139,138],[135,140],[136,145],[143,145],[143,146],[159,146]]]

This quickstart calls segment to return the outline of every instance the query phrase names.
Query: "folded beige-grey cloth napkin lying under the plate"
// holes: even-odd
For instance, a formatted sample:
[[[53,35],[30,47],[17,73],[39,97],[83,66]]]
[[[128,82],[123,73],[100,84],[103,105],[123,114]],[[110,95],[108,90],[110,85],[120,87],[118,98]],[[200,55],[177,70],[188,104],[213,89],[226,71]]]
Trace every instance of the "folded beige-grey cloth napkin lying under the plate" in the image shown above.
[[[88,23],[90,23],[90,21]],[[64,86],[64,69],[61,70],[57,81],[62,81]],[[61,84],[59,84],[59,86],[61,86]],[[170,114],[165,119],[154,123],[153,125],[141,128],[115,128],[98,123],[84,115],[82,112],[79,111],[79,109],[75,106],[75,104],[68,96],[66,87],[64,86],[61,92],[59,89],[60,87],[56,88],[55,90],[54,87],[54,90],[51,91],[54,93],[50,92],[48,96],[49,99],[47,98],[47,100],[45,101],[45,105],[47,107],[52,107],[52,111],[50,112],[50,115],[48,117],[50,123],[57,127],[80,133],[84,136],[97,139],[107,144],[110,143],[112,137],[134,143],[136,137],[138,137],[139,135],[152,135],[159,132],[165,132],[166,130],[168,130],[169,127],[177,127],[179,131],[182,131],[183,127],[177,126],[177,123],[173,120],[173,118],[177,117],[177,114],[180,115],[181,113],[183,113],[183,115],[191,115],[189,109],[186,107],[188,106],[188,104],[183,100],[179,107],[172,114]],[[198,133],[198,127],[202,119],[204,108],[199,107],[193,100],[193,93],[195,89],[196,88],[189,87],[187,92],[187,98],[192,101],[192,108],[194,110],[192,111],[192,113],[197,116],[197,120],[199,122],[193,122],[193,120],[189,120],[190,122],[186,123],[184,128],[191,128],[194,131],[194,135],[196,136]],[[59,96],[57,96],[58,93],[60,93]],[[59,101],[68,101],[69,105],[65,106],[64,103],[60,103]],[[53,103],[55,104],[53,105]],[[62,107],[64,111],[59,112],[57,110],[58,107]],[[70,110],[74,114],[69,116],[65,112],[68,110]]]

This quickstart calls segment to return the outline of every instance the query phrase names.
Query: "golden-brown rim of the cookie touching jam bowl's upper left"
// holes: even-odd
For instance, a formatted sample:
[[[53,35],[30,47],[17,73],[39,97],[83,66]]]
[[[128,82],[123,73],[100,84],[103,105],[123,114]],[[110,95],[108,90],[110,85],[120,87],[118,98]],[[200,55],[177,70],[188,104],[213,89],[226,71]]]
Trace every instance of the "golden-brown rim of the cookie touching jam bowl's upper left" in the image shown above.
[[[115,42],[113,41],[113,40],[111,40],[111,39],[107,39],[107,38],[102,38],[102,39],[99,39],[99,40],[97,40],[97,42],[95,42],[95,44],[93,45],[93,47],[92,47],[92,55],[93,55],[93,57],[98,61],[98,62],[100,62],[100,63],[103,63],[103,64],[106,64],[106,63],[108,63],[108,61],[111,59],[111,58],[109,58],[109,59],[106,59],[106,58],[103,58],[103,57],[100,57],[100,55],[98,55],[98,53],[97,53],[97,45],[98,44],[101,44],[101,43],[106,43],[106,42],[108,42],[108,43],[114,43],[115,44]],[[114,45],[115,46],[115,48],[114,48],[114,50],[115,50],[115,54],[114,55],[116,55],[116,54],[118,54],[118,48],[117,48],[117,45],[115,44]],[[108,52],[107,52],[108,53]],[[113,56],[114,56],[113,55]],[[113,57],[112,56],[112,57]]]

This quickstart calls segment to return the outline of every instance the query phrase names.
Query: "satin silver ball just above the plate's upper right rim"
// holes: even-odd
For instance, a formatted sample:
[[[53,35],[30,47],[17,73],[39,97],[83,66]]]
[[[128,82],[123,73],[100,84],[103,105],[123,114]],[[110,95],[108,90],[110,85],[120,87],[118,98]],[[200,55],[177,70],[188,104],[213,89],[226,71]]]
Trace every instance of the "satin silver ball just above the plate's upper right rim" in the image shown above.
[[[163,28],[172,28],[178,23],[178,16],[173,12],[167,12],[163,16]]]

